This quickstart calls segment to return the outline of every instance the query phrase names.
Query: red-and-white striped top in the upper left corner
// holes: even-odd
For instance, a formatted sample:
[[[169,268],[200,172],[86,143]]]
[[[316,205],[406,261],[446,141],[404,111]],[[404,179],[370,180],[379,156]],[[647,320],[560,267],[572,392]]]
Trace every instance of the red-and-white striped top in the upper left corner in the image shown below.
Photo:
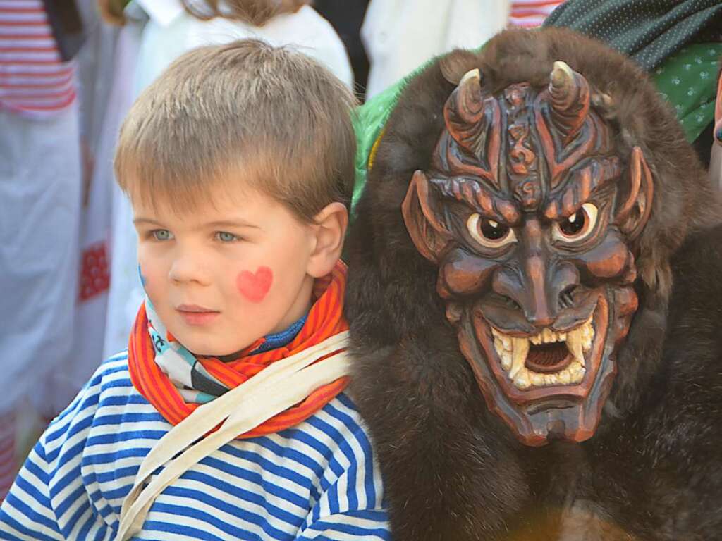
[[[74,66],[61,61],[43,1],[0,0],[0,107],[44,116],[74,99]]]

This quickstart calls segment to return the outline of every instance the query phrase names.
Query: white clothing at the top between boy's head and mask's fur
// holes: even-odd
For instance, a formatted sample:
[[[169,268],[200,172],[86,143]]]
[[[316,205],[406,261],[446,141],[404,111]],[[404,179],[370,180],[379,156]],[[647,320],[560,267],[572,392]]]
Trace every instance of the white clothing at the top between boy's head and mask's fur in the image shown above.
[[[478,48],[504,30],[508,0],[371,0],[361,38],[370,69],[366,98],[455,48]]]

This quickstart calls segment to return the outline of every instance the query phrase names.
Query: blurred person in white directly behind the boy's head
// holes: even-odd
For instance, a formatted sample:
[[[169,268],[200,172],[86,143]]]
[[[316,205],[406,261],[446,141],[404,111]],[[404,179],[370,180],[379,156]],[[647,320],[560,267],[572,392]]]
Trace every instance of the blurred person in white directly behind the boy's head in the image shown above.
[[[342,40],[333,27],[310,5],[309,0],[136,0],[123,9],[122,0],[100,0],[105,18],[125,23],[135,39],[123,45],[133,50],[133,60],[119,48],[123,64],[116,65],[123,74],[113,84],[121,92],[120,109],[132,100],[170,63],[183,53],[201,45],[229,43],[243,38],[257,38],[271,45],[289,45],[316,58],[348,87],[353,75]],[[122,38],[122,34],[121,34]],[[134,66],[130,67],[129,64]],[[132,76],[130,76],[130,72]],[[105,133],[117,133],[122,114],[104,126]],[[103,146],[114,146],[108,137]],[[110,155],[110,154],[108,154]],[[104,164],[112,175],[110,163]],[[110,247],[110,293],[105,318],[103,356],[127,347],[127,338],[143,299],[136,263],[136,233],[131,224],[131,208],[123,193],[113,188],[113,223]]]

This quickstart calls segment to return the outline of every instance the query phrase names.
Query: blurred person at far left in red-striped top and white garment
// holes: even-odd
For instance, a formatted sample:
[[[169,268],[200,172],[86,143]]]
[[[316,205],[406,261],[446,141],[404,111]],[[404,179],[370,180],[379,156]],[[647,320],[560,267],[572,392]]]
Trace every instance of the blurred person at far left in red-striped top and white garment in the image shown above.
[[[82,190],[74,2],[0,0],[0,499],[19,405],[73,356]],[[78,387],[82,382],[78,382]]]

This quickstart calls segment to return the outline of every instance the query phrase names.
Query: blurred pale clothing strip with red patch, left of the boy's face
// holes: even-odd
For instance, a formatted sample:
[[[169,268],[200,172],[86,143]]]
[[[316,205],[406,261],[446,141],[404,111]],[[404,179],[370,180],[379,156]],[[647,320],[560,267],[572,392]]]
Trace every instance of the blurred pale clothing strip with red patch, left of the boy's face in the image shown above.
[[[107,115],[115,113],[113,71],[118,27],[101,24],[95,4],[88,0],[83,22],[87,38],[76,63],[80,104],[81,140],[85,149],[82,176],[87,183],[80,216],[79,291],[75,312],[73,354],[62,370],[53,371],[31,397],[45,418],[52,418],[77,395],[83,382],[103,359],[105,312],[108,304],[107,249],[110,234],[110,203],[113,178],[104,173],[112,160],[116,133],[103,144],[101,134]],[[92,9],[91,9],[92,8]],[[117,129],[117,123],[116,123]],[[107,137],[105,137],[107,138]],[[110,148],[108,148],[110,146]],[[87,178],[86,178],[87,177]]]

